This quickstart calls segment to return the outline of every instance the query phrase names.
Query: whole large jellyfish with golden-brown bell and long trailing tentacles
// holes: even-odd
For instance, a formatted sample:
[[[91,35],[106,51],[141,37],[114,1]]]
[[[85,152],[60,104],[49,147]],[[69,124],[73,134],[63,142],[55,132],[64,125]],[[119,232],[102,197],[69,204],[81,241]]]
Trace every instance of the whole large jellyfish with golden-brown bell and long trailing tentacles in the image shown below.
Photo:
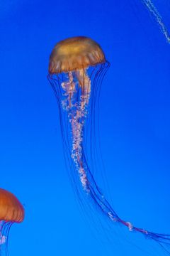
[[[120,223],[131,232],[141,233],[165,248],[170,245],[170,235],[137,228],[120,218],[96,183],[94,166],[89,164],[94,152],[93,126],[98,91],[109,66],[101,46],[84,36],[60,41],[50,55],[47,78],[59,107],[69,177],[78,196],[84,193],[95,210],[112,223]]]

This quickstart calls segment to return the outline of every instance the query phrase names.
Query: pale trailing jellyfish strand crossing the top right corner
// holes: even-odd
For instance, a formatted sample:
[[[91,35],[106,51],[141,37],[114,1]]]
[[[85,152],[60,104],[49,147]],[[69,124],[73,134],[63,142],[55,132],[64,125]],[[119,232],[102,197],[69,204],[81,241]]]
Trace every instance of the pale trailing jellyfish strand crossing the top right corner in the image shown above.
[[[161,28],[162,33],[164,34],[166,41],[170,43],[170,35],[169,31],[164,25],[164,22],[162,21],[162,16],[157,11],[157,8],[154,6],[152,0],[142,0],[142,3],[145,4],[149,12],[152,14],[152,16],[156,19],[157,23],[159,24],[159,27]]]

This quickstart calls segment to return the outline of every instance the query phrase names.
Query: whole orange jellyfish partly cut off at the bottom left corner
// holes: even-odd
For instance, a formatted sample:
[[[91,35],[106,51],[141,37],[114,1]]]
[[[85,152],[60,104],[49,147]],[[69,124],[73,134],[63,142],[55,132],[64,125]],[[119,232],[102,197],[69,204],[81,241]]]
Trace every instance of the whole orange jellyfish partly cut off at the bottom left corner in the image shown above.
[[[13,223],[21,223],[24,209],[13,193],[0,188],[0,255],[8,253],[8,233]]]

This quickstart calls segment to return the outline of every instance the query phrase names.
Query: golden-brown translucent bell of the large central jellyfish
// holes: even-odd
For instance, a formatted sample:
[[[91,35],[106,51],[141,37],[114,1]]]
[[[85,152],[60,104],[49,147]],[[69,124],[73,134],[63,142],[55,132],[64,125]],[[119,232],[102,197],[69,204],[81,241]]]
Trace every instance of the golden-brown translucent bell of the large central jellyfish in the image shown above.
[[[50,55],[49,73],[67,73],[105,63],[101,46],[85,36],[76,36],[60,41]]]

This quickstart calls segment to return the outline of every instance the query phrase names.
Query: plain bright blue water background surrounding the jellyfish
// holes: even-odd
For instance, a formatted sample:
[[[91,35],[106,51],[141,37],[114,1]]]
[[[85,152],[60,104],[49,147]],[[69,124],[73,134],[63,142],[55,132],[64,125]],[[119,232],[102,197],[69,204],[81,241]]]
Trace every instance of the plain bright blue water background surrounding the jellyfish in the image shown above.
[[[154,3],[167,25],[169,1]],[[170,46],[145,6],[140,0],[2,0],[0,32],[0,186],[26,208],[25,221],[11,228],[10,255],[163,255],[119,227],[108,242],[99,225],[95,230],[82,218],[47,82],[57,41],[82,35],[101,44],[111,63],[100,126],[113,207],[140,228],[170,233]]]

